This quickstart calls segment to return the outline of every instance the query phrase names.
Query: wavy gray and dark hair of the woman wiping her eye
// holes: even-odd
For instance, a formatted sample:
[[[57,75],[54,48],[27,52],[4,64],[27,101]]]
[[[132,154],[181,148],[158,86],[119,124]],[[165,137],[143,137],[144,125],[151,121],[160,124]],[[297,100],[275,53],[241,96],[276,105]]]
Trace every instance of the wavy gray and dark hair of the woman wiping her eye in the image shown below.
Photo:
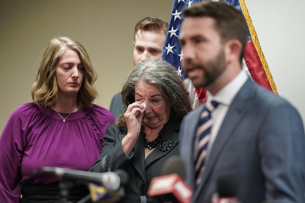
[[[165,60],[147,59],[136,65],[121,91],[125,107],[135,102],[135,85],[143,81],[154,85],[171,105],[170,119],[182,119],[192,110],[189,92],[178,71]],[[126,129],[124,113],[118,118],[118,126]]]

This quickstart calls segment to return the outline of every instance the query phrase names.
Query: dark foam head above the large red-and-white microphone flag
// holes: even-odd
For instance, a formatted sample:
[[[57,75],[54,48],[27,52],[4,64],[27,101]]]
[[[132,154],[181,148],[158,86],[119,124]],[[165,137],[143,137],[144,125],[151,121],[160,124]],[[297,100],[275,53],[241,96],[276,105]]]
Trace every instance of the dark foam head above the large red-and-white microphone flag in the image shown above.
[[[182,179],[184,179],[186,176],[184,162],[178,155],[169,157],[162,167],[161,176],[169,174],[178,174]]]

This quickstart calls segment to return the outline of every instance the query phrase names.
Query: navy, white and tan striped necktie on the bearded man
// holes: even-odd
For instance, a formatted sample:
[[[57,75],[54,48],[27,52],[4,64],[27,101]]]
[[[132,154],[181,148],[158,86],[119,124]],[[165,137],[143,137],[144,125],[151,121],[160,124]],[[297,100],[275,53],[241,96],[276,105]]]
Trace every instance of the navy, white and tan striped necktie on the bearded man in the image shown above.
[[[205,107],[200,114],[200,120],[197,128],[198,145],[196,148],[195,160],[195,180],[196,184],[201,181],[202,173],[204,171],[204,160],[207,155],[207,144],[210,140],[211,127],[213,120],[211,119],[211,112],[217,108],[219,103],[217,101],[207,101]]]

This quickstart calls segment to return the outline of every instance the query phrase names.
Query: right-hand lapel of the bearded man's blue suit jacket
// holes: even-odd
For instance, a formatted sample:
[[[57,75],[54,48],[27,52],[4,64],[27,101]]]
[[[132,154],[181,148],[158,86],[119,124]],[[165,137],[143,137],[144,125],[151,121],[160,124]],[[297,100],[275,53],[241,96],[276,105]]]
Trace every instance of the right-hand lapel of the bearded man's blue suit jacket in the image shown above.
[[[241,87],[241,89],[236,94],[232,101],[231,106],[223,120],[222,125],[218,131],[217,137],[215,139],[214,145],[212,146],[208,159],[206,161],[205,170],[203,173],[202,181],[195,191],[194,199],[200,194],[200,191],[204,188],[207,179],[215,166],[218,157],[220,156],[224,145],[227,140],[232,136],[232,131],[236,125],[240,122],[240,119],[248,112],[251,105],[251,98],[254,95],[253,81],[248,79],[247,82]]]

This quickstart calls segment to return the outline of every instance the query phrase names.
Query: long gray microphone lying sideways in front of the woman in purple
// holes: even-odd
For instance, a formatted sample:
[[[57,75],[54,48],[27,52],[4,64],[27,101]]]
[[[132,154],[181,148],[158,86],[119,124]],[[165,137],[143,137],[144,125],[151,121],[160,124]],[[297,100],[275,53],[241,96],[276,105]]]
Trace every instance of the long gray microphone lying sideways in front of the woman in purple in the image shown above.
[[[128,175],[125,171],[119,171],[119,173],[96,173],[50,166],[44,166],[40,169],[40,171],[46,174],[55,175],[62,179],[66,178],[81,180],[97,185],[102,185],[107,191],[110,192],[118,191],[121,184],[124,185],[128,182]]]

